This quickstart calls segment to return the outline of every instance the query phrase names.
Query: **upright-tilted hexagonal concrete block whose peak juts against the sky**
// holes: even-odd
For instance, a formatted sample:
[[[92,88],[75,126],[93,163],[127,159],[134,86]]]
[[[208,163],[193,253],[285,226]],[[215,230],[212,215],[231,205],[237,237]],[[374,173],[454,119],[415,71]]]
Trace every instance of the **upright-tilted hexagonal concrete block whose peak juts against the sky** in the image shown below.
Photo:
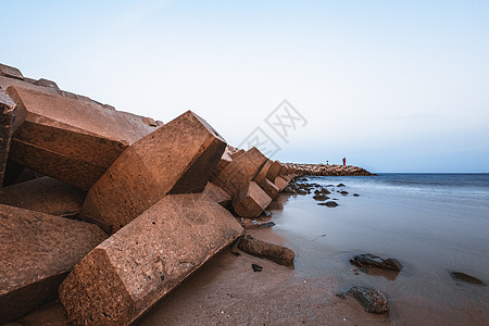
[[[80,216],[116,231],[166,193],[202,192],[225,147],[188,111],[127,148],[91,187]]]

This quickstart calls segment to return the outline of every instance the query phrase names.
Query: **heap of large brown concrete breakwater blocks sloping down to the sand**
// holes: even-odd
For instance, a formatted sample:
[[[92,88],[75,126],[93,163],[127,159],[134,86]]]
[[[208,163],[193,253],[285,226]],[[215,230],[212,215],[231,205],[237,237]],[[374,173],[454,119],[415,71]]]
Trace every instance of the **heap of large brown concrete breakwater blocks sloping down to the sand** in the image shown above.
[[[74,325],[130,324],[296,175],[190,111],[163,124],[1,64],[0,88],[0,324],[57,298]]]

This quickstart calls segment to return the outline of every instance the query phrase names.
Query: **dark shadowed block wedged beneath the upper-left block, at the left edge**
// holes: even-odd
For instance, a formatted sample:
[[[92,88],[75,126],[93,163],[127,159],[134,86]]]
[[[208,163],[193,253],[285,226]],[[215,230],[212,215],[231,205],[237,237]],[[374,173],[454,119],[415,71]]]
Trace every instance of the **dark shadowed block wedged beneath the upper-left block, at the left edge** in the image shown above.
[[[0,190],[0,203],[59,216],[82,211],[87,191],[50,177],[15,184]]]

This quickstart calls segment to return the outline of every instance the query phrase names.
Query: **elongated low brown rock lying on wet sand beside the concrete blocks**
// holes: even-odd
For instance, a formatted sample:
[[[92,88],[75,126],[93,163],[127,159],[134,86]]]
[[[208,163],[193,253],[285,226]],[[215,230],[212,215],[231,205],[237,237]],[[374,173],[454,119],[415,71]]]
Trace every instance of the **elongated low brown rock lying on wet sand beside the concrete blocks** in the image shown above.
[[[254,239],[251,236],[247,236],[240,239],[238,247],[249,254],[267,259],[277,264],[285,266],[293,265],[293,258],[296,254],[292,250],[284,246],[268,243]]]

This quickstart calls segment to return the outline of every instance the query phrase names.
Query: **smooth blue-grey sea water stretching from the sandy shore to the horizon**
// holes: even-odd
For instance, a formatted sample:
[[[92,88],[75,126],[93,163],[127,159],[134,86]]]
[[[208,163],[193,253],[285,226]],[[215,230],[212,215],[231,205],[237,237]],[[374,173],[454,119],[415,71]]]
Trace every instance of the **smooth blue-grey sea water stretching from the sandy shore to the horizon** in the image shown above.
[[[379,289],[401,325],[489,325],[489,286],[450,275],[463,272],[489,284],[489,174],[308,179],[329,189],[339,205],[317,205],[312,193],[290,196],[283,210],[272,211],[273,233],[296,251],[298,277],[334,275],[339,291]],[[396,258],[404,268],[355,275],[349,261],[358,253]]]

